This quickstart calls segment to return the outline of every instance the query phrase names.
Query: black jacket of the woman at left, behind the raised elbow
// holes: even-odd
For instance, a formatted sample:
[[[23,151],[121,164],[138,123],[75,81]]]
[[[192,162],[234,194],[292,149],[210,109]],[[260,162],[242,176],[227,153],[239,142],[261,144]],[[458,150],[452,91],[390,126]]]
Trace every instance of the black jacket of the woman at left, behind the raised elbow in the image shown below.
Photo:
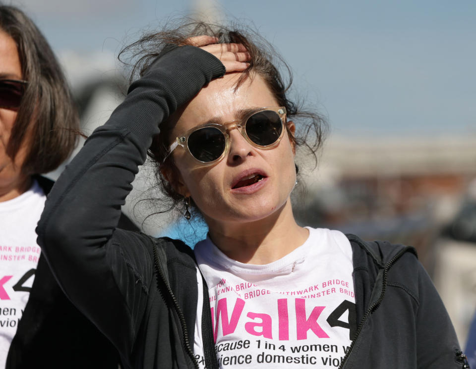
[[[48,195],[54,182],[35,176]],[[120,228],[138,228],[125,215]],[[43,255],[25,310],[10,344],[6,369],[117,369],[119,354],[112,343],[66,298]]]

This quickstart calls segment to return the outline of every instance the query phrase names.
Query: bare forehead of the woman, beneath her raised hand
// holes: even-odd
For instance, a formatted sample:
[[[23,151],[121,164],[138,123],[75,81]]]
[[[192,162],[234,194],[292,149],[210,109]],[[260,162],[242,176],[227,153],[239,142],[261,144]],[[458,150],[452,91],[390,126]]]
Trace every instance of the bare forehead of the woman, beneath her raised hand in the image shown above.
[[[239,76],[239,73],[226,74],[202,88],[179,112],[173,132],[183,133],[209,120],[231,121],[237,119],[243,110],[278,105],[259,75],[246,78],[237,88]]]

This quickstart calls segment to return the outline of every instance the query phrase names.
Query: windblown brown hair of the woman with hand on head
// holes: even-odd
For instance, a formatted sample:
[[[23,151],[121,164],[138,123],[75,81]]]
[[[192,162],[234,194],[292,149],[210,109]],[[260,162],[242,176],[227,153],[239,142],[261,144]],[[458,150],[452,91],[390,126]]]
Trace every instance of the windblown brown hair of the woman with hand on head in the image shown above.
[[[243,29],[239,25],[215,25],[192,19],[182,19],[178,23],[175,27],[166,26],[166,30],[162,32],[145,35],[119,53],[119,60],[121,60],[124,54],[131,54],[129,57],[135,60],[134,64],[129,64],[132,66],[130,82],[142,76],[152,61],[160,55],[167,45],[187,45],[190,37],[207,35],[216,37],[217,44],[243,44],[250,53],[251,59],[249,68],[242,72],[236,87],[238,88],[252,73],[261,76],[276,98],[278,105],[286,107],[288,120],[293,120],[296,123],[297,131],[293,138],[295,146],[307,148],[317,164],[316,153],[324,140],[327,122],[322,115],[312,111],[305,111],[288,98],[287,94],[293,82],[291,69],[283,58],[275,52],[274,48],[258,32],[251,30],[249,27]],[[281,69],[287,75],[286,79],[282,77],[276,65],[281,66]],[[165,212],[176,208],[178,203],[183,200],[183,197],[174,191],[171,184],[161,173],[162,165],[174,164],[172,156],[169,157],[171,159],[168,158],[162,164],[170,145],[170,133],[173,126],[168,121],[164,121],[161,123],[160,128],[161,133],[153,140],[148,155],[155,165],[159,190],[171,201],[167,202],[167,199],[148,200],[152,200],[161,208],[166,209],[159,212]],[[174,171],[171,170],[170,172],[173,173]],[[165,208],[164,203],[167,204]]]

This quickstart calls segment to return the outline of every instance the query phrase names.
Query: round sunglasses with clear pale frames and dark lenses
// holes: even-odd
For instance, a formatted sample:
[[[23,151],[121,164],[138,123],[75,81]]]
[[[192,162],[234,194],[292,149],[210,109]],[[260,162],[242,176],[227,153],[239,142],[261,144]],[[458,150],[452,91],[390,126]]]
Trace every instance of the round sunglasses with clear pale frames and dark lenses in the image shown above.
[[[164,161],[181,146],[200,164],[215,164],[228,152],[230,147],[228,132],[234,128],[237,128],[244,139],[254,147],[261,150],[273,149],[283,137],[285,123],[286,108],[283,106],[253,109],[242,119],[223,124],[206,123],[177,137]]]

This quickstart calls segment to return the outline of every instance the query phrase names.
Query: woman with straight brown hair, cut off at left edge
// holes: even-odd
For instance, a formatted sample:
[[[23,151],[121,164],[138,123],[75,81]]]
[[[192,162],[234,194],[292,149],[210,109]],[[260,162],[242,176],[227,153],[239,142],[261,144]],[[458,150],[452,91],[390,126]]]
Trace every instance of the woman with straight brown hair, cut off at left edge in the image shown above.
[[[0,368],[8,350],[7,368],[118,366],[114,347],[66,299],[36,244],[53,186],[40,174],[69,157],[78,130],[47,41],[21,10],[0,5]]]

